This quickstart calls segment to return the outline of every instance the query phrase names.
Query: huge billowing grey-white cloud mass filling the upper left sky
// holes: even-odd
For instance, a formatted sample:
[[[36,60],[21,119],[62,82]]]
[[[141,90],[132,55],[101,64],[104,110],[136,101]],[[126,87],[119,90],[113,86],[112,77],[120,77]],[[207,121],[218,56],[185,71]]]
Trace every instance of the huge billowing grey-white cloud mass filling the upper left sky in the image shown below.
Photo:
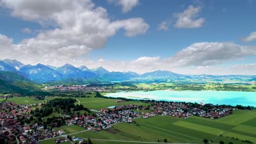
[[[1,49],[1,56],[14,57],[30,64],[50,62],[62,65],[79,59],[93,49],[103,48],[108,38],[119,29],[124,29],[127,37],[134,37],[146,33],[149,28],[139,17],[111,21],[107,10],[95,7],[90,0],[0,0],[0,4],[10,9],[12,16],[55,26],[16,45],[2,35],[9,39],[9,47],[8,51]]]

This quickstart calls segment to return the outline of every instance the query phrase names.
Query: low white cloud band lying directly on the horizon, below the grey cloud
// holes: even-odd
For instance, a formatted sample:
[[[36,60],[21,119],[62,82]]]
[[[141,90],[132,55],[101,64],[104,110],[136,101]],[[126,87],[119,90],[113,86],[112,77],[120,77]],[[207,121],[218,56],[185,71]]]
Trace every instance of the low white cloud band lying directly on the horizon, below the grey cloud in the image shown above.
[[[74,64],[78,63],[80,62]],[[256,70],[256,63],[231,67],[221,65],[177,67],[167,59],[160,57],[139,57],[132,61],[86,61],[82,63],[88,68],[104,67],[109,71],[135,71],[139,74],[155,70],[169,70],[178,74],[255,75]]]

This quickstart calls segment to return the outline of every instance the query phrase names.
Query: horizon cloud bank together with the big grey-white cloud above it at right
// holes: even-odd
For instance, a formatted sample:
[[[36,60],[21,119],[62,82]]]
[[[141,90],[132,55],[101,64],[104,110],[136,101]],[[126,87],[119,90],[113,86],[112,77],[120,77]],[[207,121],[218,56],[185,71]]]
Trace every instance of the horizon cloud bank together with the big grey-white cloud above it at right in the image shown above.
[[[253,75],[255,73],[254,65],[228,68],[219,65],[229,61],[241,61],[246,56],[256,56],[256,46],[201,42],[194,43],[169,58],[143,56],[132,61],[86,61],[82,63],[89,68],[104,67],[110,71],[136,71],[137,73],[160,69],[180,74]]]

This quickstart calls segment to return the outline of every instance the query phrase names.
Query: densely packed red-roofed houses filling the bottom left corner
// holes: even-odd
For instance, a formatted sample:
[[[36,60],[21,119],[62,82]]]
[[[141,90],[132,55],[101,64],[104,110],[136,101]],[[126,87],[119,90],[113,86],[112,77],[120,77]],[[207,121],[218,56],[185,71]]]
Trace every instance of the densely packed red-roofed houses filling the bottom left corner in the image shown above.
[[[34,107],[9,101],[0,105],[0,139],[8,143],[38,143],[38,140],[59,136],[59,131],[44,129],[42,124],[31,123]],[[22,123],[21,123],[22,121]]]

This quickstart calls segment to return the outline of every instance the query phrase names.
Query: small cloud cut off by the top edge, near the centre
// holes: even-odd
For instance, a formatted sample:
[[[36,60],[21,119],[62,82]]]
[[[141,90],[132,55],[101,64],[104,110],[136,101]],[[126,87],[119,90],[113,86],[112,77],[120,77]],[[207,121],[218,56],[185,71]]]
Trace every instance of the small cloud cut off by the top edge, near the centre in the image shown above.
[[[139,0],[108,0],[108,2],[120,5],[123,13],[127,13],[139,4]]]

